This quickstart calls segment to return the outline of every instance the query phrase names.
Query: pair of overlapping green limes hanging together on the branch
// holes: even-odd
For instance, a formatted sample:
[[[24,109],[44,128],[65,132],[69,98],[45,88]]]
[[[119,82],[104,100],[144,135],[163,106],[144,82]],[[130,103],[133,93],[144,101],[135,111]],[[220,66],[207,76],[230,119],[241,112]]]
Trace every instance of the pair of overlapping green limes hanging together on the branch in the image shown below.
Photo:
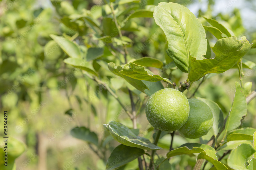
[[[206,103],[187,99],[182,92],[172,88],[161,89],[148,99],[146,116],[154,128],[178,130],[191,139],[206,135],[213,125],[213,115]]]

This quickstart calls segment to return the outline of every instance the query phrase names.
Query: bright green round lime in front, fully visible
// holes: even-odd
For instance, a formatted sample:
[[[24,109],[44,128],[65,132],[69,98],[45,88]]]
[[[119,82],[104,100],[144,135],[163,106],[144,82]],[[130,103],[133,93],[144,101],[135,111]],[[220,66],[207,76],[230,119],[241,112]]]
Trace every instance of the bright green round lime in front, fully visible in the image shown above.
[[[147,101],[148,122],[162,131],[178,130],[188,120],[189,103],[179,90],[165,88],[158,90]]]

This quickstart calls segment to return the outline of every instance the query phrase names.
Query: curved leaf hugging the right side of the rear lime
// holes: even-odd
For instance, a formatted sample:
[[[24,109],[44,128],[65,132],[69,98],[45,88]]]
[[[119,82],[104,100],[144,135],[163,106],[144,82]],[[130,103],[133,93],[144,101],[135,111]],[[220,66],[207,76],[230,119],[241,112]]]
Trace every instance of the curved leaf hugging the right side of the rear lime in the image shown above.
[[[197,99],[205,102],[209,108],[211,109],[212,115],[213,115],[213,125],[212,125],[212,130],[213,134],[216,137],[220,130],[222,129],[223,123],[224,123],[224,117],[223,117],[223,112],[218,106],[217,103],[211,100],[203,99],[200,97],[196,97]]]

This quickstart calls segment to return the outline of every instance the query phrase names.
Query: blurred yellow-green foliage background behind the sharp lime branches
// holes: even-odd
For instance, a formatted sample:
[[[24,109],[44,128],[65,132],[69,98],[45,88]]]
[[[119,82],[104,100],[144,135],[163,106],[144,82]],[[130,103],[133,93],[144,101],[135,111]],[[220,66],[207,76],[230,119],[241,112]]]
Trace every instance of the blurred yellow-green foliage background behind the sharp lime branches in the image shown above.
[[[159,2],[168,1],[119,0],[119,5],[115,6],[117,19],[122,23],[134,10],[153,10]],[[256,2],[253,0],[171,2],[188,7],[202,23],[206,21],[201,16],[221,21],[238,39],[246,35],[252,43],[256,38]],[[49,36],[56,34],[73,40],[84,56],[90,47],[103,47],[104,51],[98,51],[102,61],[123,64],[123,58],[116,58],[110,50],[112,47],[104,42],[104,36],[109,36],[109,30],[114,27],[110,12],[101,0],[0,2],[0,115],[2,120],[3,112],[8,111],[8,135],[26,145],[25,152],[16,159],[16,169],[105,169],[105,161],[118,143],[104,131],[102,124],[116,120],[132,128],[132,122],[118,101],[79,70],[67,66],[63,62],[67,55]],[[125,22],[122,33],[127,37],[125,43],[131,54],[127,56],[128,60],[144,56],[157,58],[165,64],[160,74],[177,84],[186,80],[187,74],[177,69],[167,56],[166,37],[153,18],[132,18]],[[120,38],[111,36],[114,37],[112,43],[119,45]],[[217,41],[209,32],[207,38],[210,46]],[[255,55],[254,48],[243,58],[256,62]],[[101,79],[109,83],[130,109],[126,88],[129,85],[104,68],[103,63],[96,59],[91,62]],[[244,82],[253,82],[252,89],[255,89],[256,68],[250,64],[251,69],[244,69]],[[151,71],[158,73],[156,69]],[[234,82],[239,81],[238,69],[207,78],[196,95],[217,102],[226,116],[232,104]],[[199,83],[195,82],[185,92],[187,96],[193,94]],[[144,98],[145,95],[140,93],[135,97],[138,100],[136,106],[141,107],[138,128],[141,136],[151,137],[154,131],[145,121]],[[256,128],[255,106],[254,99],[248,105],[248,115],[242,126]],[[85,126],[95,132],[99,138],[98,147],[72,137],[70,130],[76,126]],[[206,143],[208,138],[206,135],[200,140]],[[176,135],[173,147],[198,140]],[[159,141],[159,146],[166,152],[169,144],[169,135]],[[122,169],[136,169],[137,160],[134,161]],[[195,158],[182,155],[172,158],[171,162],[173,169],[191,169]]]

